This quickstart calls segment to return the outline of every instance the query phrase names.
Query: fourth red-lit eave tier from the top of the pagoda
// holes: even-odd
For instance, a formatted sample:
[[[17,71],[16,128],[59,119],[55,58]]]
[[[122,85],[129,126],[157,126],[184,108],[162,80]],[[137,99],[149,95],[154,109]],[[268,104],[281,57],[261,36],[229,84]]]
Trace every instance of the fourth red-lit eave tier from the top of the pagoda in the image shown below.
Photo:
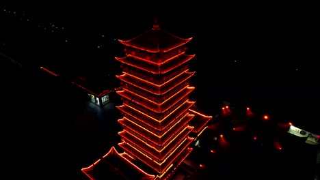
[[[170,107],[172,107],[173,104],[176,104],[177,102],[183,100],[183,98],[189,95],[189,93],[191,93],[191,91],[193,90],[194,87],[185,87],[161,104],[152,102],[151,100],[148,100],[148,98],[126,89],[123,89],[122,91],[116,91],[116,93],[118,93],[121,97],[126,98],[126,100],[139,104],[139,106],[144,106],[144,108],[148,108],[153,112],[161,113],[168,110]]]

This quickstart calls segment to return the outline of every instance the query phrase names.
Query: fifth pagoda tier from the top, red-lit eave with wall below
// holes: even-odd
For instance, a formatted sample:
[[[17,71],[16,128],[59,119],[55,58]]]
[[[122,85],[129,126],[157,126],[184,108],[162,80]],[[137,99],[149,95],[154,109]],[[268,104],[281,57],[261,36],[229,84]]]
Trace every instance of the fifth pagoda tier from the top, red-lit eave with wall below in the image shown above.
[[[126,119],[129,119],[142,127],[148,127],[148,130],[152,131],[154,134],[161,136],[165,130],[170,128],[170,125],[173,125],[181,119],[181,117],[185,116],[189,113],[187,110],[194,105],[195,102],[186,101],[174,111],[170,112],[169,115],[163,116],[159,115],[159,117],[151,117],[150,115],[136,110],[135,108],[128,106],[126,104],[122,104],[121,106],[117,106],[119,110],[121,110],[122,114]]]

